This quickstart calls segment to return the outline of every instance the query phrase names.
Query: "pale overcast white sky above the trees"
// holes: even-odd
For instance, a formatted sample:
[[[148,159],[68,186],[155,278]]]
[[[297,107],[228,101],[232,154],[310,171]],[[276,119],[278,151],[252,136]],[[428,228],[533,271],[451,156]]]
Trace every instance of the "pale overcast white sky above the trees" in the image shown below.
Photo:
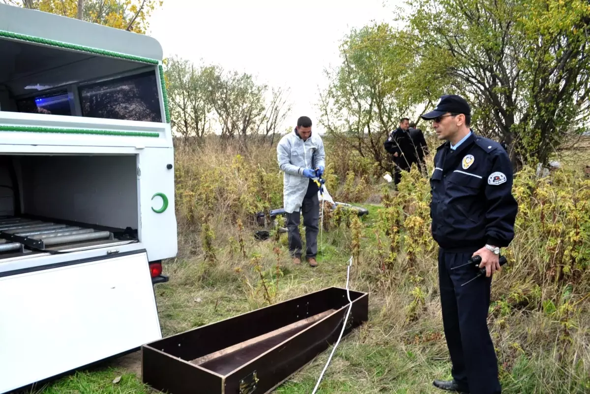
[[[392,7],[400,3],[165,0],[150,20],[149,35],[162,44],[165,57],[178,55],[196,64],[202,60],[290,88],[293,111],[284,126],[294,127],[301,115],[317,124],[318,87],[326,86],[323,70],[340,63],[338,45],[344,35],[373,21],[391,21]]]

